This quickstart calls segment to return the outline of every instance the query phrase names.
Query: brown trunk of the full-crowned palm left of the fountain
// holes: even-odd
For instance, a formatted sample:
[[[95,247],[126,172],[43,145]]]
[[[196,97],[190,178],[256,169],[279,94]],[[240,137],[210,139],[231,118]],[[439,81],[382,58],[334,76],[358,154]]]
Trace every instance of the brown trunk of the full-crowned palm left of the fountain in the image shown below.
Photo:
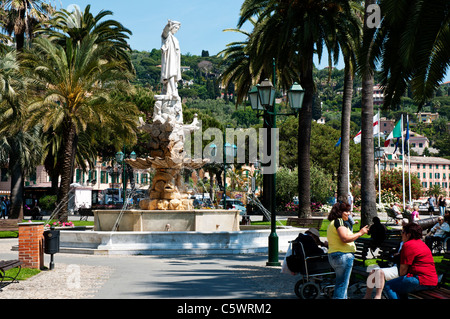
[[[57,214],[60,221],[68,219],[68,202],[70,198],[70,184],[72,183],[73,158],[76,149],[76,131],[74,124],[69,121],[64,137],[64,157],[62,162],[61,184],[58,192],[58,204],[62,203],[62,208]]]

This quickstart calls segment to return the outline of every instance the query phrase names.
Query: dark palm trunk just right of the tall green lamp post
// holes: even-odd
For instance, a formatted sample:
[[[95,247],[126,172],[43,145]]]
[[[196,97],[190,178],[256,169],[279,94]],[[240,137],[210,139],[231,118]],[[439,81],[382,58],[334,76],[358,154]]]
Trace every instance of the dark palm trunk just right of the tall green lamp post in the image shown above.
[[[305,48],[308,57],[302,65],[300,75],[301,84],[305,89],[303,107],[298,117],[298,217],[311,216],[311,175],[310,175],[310,149],[311,149],[311,121],[314,96],[313,54],[314,44],[311,42]]]

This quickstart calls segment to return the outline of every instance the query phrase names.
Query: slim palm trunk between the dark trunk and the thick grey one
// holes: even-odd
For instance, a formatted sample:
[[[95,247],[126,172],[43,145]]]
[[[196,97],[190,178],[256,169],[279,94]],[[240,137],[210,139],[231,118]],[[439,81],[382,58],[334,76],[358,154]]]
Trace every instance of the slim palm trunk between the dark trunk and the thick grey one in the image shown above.
[[[338,172],[338,198],[348,198],[350,190],[350,115],[352,111],[353,72],[349,62],[345,63],[344,97],[341,118],[341,154]]]

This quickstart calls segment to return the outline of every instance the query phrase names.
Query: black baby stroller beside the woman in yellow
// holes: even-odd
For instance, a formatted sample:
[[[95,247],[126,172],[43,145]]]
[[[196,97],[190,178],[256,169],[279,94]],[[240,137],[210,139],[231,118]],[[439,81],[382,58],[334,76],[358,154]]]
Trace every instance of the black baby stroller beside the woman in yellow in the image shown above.
[[[286,257],[290,271],[302,278],[295,284],[295,294],[301,299],[316,299],[320,295],[331,298],[334,292],[335,272],[328,262],[328,254],[305,257],[300,241],[290,241],[292,255]]]

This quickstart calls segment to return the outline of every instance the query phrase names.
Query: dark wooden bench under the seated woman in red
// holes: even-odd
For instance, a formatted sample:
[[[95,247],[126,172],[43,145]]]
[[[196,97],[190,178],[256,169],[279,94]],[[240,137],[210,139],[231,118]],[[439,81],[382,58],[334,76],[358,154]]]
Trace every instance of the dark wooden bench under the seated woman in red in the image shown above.
[[[435,289],[423,290],[409,294],[414,299],[450,299],[450,252],[446,252],[439,267],[436,267],[438,276],[442,278]]]

